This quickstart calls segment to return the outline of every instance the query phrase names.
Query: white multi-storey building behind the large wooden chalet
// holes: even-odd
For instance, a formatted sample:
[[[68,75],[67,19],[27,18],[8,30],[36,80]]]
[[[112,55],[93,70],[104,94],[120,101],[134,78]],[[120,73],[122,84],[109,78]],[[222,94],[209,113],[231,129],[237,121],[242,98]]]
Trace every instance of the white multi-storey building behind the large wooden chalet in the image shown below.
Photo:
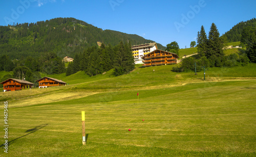
[[[133,50],[133,57],[135,64],[143,64],[141,57],[144,55],[151,53],[155,50],[157,50],[157,43],[145,43],[145,44],[139,44],[132,46]]]

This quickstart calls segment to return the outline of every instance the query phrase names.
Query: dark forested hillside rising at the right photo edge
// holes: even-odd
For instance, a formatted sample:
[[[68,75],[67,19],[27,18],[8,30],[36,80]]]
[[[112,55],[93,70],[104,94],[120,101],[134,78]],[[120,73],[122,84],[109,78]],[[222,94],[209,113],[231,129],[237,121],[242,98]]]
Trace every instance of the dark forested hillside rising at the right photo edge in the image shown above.
[[[232,27],[232,29],[227,31],[224,35],[227,37],[227,40],[229,42],[241,41],[244,29],[249,27],[256,28],[255,18],[247,21],[242,21],[241,23]]]

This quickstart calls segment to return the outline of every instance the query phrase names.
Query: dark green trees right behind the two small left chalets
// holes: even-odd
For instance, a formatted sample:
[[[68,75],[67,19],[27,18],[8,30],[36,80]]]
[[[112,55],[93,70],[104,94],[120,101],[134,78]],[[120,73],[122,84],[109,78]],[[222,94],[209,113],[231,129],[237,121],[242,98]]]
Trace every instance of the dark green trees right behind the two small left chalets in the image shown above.
[[[56,53],[48,52],[38,58],[22,57],[11,59],[8,55],[0,57],[0,71],[12,72],[3,76],[0,81],[9,78],[26,79],[29,82],[37,84],[36,80],[41,78],[41,74],[62,74],[66,72],[65,63],[62,58],[57,57]]]

